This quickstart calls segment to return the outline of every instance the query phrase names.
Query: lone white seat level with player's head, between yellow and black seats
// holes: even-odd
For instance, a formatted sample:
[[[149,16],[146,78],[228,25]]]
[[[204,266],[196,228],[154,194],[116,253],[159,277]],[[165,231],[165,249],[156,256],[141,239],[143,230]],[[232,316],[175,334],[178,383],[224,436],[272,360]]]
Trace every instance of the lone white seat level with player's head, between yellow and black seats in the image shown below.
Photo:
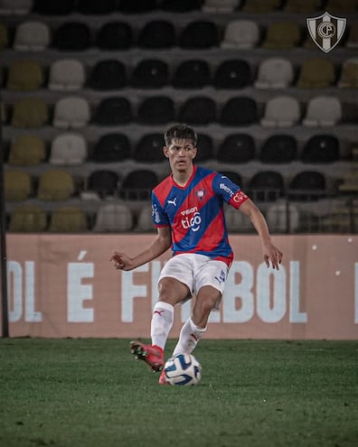
[[[87,144],[82,135],[61,134],[53,138],[51,144],[50,164],[76,165],[87,157]]]

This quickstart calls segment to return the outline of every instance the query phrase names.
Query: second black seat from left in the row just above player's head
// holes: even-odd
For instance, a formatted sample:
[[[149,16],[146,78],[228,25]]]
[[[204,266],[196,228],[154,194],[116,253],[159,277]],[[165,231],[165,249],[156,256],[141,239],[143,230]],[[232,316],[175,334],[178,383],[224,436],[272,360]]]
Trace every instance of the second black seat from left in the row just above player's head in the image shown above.
[[[174,101],[165,96],[145,98],[138,107],[137,121],[155,125],[174,121]]]

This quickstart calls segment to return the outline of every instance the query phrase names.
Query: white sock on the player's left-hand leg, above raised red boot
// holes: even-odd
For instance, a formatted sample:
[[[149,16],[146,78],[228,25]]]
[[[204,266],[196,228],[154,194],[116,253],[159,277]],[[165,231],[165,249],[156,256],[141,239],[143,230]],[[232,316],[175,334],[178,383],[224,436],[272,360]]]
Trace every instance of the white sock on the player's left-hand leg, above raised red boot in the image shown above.
[[[172,329],[174,321],[174,307],[172,304],[158,301],[153,309],[150,336],[152,344],[165,349],[165,342]]]

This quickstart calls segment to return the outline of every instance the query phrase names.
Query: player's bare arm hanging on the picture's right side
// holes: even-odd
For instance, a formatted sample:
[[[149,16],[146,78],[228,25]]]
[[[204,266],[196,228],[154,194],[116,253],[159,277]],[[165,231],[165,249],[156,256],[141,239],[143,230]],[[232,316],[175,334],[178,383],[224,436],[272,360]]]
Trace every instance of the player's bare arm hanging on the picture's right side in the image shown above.
[[[273,268],[278,269],[282,261],[282,252],[273,244],[269,234],[268,223],[262,212],[250,199],[246,199],[241,203],[239,210],[251,220],[252,225],[259,234],[265,264],[269,267],[271,263]]]

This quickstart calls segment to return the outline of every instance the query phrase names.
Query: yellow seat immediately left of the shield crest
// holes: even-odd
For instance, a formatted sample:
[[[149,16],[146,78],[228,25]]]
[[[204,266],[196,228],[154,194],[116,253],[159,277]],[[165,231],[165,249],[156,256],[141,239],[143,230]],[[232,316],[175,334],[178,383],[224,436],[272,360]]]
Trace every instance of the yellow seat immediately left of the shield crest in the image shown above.
[[[266,50],[287,50],[301,42],[301,30],[296,22],[270,23],[261,47]]]

